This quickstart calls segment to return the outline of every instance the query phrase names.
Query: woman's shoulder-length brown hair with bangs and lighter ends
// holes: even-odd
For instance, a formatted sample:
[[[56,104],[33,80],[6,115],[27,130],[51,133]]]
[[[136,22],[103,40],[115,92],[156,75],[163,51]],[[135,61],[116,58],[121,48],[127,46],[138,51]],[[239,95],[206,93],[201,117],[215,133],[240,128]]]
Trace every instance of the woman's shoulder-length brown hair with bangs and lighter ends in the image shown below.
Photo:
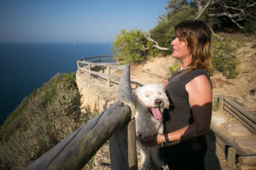
[[[206,23],[198,20],[182,21],[175,26],[176,36],[187,42],[192,56],[192,62],[188,65],[188,73],[195,69],[206,69],[210,72],[210,29]]]

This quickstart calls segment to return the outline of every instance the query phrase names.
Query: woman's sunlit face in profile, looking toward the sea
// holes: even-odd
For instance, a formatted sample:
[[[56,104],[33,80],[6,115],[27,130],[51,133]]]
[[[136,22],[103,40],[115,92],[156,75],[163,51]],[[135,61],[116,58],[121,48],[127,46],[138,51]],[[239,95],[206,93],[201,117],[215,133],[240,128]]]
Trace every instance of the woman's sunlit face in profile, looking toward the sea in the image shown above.
[[[172,57],[184,60],[190,56],[190,50],[188,49],[186,41],[182,41],[176,37],[172,40],[171,45],[173,46]]]

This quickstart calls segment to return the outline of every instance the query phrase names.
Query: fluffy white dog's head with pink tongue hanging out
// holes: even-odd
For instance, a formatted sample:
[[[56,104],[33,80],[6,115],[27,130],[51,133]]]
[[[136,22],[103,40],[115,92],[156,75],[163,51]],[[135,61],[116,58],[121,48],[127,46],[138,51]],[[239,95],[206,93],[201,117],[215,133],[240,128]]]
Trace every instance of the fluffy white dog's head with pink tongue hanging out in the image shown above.
[[[164,87],[158,84],[148,84],[133,92],[136,109],[144,109],[155,119],[161,119],[164,108],[169,108],[169,100]]]

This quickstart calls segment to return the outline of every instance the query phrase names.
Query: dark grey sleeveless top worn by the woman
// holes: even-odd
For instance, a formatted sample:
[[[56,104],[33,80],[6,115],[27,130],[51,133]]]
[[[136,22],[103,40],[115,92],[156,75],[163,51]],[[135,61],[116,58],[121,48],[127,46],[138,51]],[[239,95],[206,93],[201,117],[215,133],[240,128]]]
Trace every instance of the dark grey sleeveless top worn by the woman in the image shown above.
[[[169,80],[180,73],[182,72],[173,74]],[[194,122],[185,85],[188,81],[191,81],[199,75],[206,75],[212,85],[208,73],[204,69],[197,69],[191,71],[189,74],[182,75],[165,87],[165,92],[170,102],[169,110],[165,110],[164,112],[166,132],[181,129]]]

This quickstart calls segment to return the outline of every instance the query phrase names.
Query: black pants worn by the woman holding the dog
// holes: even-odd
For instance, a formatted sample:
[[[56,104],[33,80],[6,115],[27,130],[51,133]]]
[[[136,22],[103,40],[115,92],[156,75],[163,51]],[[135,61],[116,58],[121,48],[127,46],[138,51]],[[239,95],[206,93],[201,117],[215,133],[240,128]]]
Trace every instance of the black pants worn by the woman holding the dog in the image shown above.
[[[165,158],[171,170],[204,170],[207,141],[204,135],[165,148]]]

